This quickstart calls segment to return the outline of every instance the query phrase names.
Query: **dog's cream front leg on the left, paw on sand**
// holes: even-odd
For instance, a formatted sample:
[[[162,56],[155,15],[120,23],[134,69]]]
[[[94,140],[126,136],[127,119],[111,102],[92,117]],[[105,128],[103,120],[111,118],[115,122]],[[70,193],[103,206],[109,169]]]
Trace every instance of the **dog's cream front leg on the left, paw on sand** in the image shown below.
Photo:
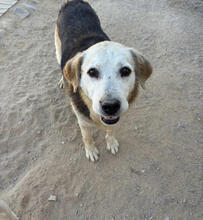
[[[92,162],[95,162],[99,159],[99,151],[94,144],[94,140],[92,137],[92,128],[80,125],[80,129],[83,142],[85,144],[86,157]]]

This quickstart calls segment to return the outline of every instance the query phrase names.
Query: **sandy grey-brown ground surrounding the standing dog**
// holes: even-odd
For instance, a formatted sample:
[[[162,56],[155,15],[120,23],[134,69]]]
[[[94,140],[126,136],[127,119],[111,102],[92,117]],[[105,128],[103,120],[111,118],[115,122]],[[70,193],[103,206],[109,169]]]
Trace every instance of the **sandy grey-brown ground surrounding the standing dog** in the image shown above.
[[[57,86],[61,1],[33,3],[25,19],[10,10],[0,18],[1,198],[22,220],[203,219],[203,2],[90,2],[111,39],[154,67],[117,129],[119,154],[109,154],[95,131],[101,156],[88,162]]]

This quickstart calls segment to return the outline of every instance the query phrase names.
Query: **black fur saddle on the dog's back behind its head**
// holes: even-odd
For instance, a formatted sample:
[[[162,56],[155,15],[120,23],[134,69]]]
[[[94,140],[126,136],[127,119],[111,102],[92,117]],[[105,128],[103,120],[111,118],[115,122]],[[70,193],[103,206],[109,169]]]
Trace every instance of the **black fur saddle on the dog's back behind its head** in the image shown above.
[[[90,46],[109,40],[102,31],[98,16],[92,7],[82,0],[68,1],[60,10],[58,34],[61,40],[61,68],[67,60]]]

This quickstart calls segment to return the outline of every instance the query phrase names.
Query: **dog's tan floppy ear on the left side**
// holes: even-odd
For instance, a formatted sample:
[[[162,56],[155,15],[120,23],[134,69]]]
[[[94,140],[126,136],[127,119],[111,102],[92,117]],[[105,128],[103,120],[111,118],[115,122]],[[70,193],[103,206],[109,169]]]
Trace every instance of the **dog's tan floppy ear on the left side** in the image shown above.
[[[73,86],[73,92],[77,92],[77,88],[80,82],[81,66],[83,61],[83,54],[78,53],[72,59],[66,62],[63,68],[64,77]]]

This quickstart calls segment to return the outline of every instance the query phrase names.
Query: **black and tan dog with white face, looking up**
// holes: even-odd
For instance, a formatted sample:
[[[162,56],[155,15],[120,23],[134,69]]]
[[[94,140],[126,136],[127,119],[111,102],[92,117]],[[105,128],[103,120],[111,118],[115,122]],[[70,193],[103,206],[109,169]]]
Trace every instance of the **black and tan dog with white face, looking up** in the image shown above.
[[[85,0],[69,0],[59,11],[55,28],[56,58],[64,87],[78,119],[86,157],[97,161],[99,151],[92,131],[106,131],[107,149],[118,152],[114,125],[129,109],[139,87],[152,73],[150,62],[138,51],[113,42]]]

